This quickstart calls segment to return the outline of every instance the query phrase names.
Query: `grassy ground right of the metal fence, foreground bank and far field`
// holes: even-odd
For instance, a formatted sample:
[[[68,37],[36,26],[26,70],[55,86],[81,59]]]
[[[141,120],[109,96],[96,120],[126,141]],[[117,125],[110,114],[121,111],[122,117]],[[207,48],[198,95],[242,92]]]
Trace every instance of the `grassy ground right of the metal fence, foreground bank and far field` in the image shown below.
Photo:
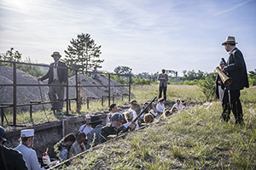
[[[177,92],[176,92],[177,90]],[[220,122],[218,101],[195,105],[125,139],[102,144],[62,169],[256,169],[255,87],[241,92],[245,126]],[[136,99],[151,99],[152,87],[134,87]],[[191,92],[191,94],[189,94]],[[203,100],[197,87],[168,87],[168,99]]]

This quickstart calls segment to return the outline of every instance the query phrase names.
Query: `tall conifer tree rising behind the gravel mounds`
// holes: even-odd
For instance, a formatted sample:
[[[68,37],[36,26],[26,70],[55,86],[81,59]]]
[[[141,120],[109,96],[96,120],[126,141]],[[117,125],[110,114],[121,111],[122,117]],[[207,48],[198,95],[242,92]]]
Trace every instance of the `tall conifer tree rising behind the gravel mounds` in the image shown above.
[[[90,34],[81,33],[76,39],[70,41],[65,50],[67,66],[79,70],[79,73],[87,74],[93,67],[102,68],[104,59],[99,59],[102,46],[97,46],[95,41],[90,38]]]

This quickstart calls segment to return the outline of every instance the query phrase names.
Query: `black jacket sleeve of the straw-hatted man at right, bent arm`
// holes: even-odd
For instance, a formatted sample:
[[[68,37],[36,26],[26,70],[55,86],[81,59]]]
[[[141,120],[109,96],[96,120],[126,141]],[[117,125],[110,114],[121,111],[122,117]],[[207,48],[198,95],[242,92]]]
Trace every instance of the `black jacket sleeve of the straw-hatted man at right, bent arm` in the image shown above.
[[[232,57],[234,59],[234,63],[226,65],[224,67],[224,71],[232,72],[232,71],[240,70],[243,66],[243,63],[244,63],[241,51],[237,50],[237,51],[235,51],[234,53],[232,53],[230,55],[232,55],[230,57]]]

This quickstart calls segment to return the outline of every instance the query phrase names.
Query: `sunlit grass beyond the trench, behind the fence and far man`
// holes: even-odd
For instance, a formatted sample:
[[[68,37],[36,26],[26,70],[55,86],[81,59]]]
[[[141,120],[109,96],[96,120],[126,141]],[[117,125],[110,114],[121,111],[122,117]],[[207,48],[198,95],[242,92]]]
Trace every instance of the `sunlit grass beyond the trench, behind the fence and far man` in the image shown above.
[[[142,104],[144,101],[153,99],[155,96],[158,96],[158,85],[136,85],[131,87],[131,93],[135,94],[134,98],[137,99],[139,104]],[[175,99],[185,99],[187,101],[205,101],[206,97],[201,92],[201,88],[197,86],[186,86],[186,85],[169,85],[167,88],[167,100],[175,101]],[[243,103],[256,103],[256,87],[247,88],[241,91],[241,101]],[[115,99],[115,103],[119,106],[121,105],[130,105],[128,98],[126,97],[124,101],[121,99]],[[63,111],[66,111],[64,106]],[[108,100],[104,102],[102,106],[101,101],[90,101],[90,108],[87,109],[87,105],[82,105],[81,113],[76,113],[76,105],[72,105],[71,113],[81,116],[84,114],[94,113],[97,111],[108,111]],[[10,113],[6,113],[7,119],[11,123],[13,121],[13,116]],[[32,113],[32,120],[30,119],[29,112],[19,112],[17,114],[17,124],[23,124],[26,126],[32,126],[34,124],[41,124],[44,122],[53,122],[57,121],[65,116],[55,116],[52,111],[46,109],[45,111],[34,111]],[[7,126],[4,121],[3,126]]]

